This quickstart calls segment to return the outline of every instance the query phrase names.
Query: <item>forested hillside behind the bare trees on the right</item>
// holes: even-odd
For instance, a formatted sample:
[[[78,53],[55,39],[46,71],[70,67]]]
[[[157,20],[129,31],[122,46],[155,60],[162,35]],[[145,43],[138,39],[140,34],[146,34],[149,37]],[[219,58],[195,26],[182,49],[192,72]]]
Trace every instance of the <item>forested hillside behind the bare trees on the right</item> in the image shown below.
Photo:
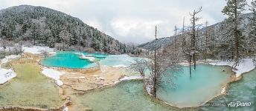
[[[255,16],[254,13],[246,13],[240,16],[242,23],[239,24],[240,28],[240,46],[241,55],[253,55],[255,50]],[[199,54],[198,58],[234,58],[234,40],[230,34],[231,26],[233,24],[229,19],[222,22],[207,26],[199,24],[196,26],[196,50]],[[180,28],[182,29],[182,27]],[[182,34],[183,32],[183,34]],[[189,47],[191,42],[191,27],[185,27],[185,30],[179,30],[177,36],[170,36],[167,38],[159,38],[157,41],[153,40],[146,44],[141,44],[138,47],[143,47],[147,50],[154,50],[155,41],[157,49],[170,48],[175,43],[175,38],[179,48],[184,50]],[[183,45],[183,46],[182,46]]]

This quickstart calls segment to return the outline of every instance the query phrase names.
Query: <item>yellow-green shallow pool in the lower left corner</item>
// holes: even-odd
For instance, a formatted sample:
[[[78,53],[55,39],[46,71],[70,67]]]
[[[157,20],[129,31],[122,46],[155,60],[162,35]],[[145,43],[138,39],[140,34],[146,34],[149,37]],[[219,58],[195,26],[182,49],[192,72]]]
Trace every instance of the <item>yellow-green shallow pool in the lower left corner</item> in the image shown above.
[[[15,65],[17,77],[0,85],[0,107],[57,108],[63,104],[59,87],[38,73],[34,64]]]

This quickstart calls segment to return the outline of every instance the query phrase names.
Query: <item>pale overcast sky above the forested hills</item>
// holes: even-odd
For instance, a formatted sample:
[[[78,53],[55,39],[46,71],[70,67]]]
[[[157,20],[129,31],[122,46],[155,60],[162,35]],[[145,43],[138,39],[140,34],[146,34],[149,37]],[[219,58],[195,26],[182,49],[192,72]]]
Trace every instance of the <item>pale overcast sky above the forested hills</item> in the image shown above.
[[[137,44],[152,40],[156,25],[159,37],[172,36],[174,26],[182,27],[183,17],[190,24],[189,12],[200,6],[200,23],[225,18],[225,0],[0,0],[0,9],[20,4],[59,10],[119,41]]]

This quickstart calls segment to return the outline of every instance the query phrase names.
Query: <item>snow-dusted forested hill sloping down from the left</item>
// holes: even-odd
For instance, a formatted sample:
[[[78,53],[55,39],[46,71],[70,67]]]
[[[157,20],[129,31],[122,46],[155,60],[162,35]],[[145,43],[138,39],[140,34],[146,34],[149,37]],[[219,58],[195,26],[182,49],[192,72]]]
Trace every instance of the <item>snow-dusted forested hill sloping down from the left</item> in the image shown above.
[[[137,48],[122,44],[80,19],[47,7],[29,5],[0,10],[0,38],[58,49],[80,47],[105,53],[139,53]]]

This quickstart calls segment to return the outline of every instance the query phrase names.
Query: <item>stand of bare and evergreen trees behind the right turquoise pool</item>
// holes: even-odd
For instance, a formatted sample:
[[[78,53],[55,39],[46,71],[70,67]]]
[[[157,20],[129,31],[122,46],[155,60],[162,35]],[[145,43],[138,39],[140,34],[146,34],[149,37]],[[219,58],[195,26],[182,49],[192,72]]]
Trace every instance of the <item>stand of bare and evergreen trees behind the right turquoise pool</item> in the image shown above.
[[[243,13],[246,5],[250,7],[252,13]],[[235,61],[232,70],[236,70],[235,67],[241,59],[255,58],[256,1],[248,4],[246,0],[227,0],[222,13],[228,18],[212,26],[208,26],[208,21],[205,21],[205,24],[198,24],[201,19],[198,15],[201,11],[202,7],[199,7],[190,13],[190,26],[186,27],[183,21],[182,28],[178,30],[174,27],[173,41],[166,47],[157,48],[157,45],[161,44],[157,42],[158,38],[152,41],[153,51],[147,55],[152,61],[136,61],[135,66],[138,68],[133,69],[139,70],[142,76],[145,75],[145,70],[150,70],[150,76],[145,79],[145,83],[146,87],[150,88],[150,94],[155,98],[161,84],[174,84],[172,81],[176,76],[174,72],[180,70],[179,63],[182,61],[190,64],[191,75],[191,63],[193,70],[196,70],[196,61],[199,60]]]

